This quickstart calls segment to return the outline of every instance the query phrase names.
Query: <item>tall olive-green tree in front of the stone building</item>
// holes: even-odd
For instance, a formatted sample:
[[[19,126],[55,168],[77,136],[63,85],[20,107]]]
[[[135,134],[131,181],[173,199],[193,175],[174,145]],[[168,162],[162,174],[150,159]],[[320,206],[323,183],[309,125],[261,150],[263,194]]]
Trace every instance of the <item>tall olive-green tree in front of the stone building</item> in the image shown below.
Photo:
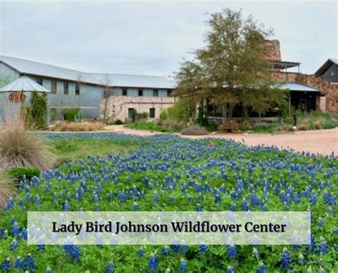
[[[207,22],[205,46],[193,51],[192,61],[183,61],[175,74],[177,94],[185,103],[201,104],[211,99],[232,116],[235,105],[265,113],[285,103],[285,91],[272,81],[266,56],[272,34],[241,11],[223,9]]]

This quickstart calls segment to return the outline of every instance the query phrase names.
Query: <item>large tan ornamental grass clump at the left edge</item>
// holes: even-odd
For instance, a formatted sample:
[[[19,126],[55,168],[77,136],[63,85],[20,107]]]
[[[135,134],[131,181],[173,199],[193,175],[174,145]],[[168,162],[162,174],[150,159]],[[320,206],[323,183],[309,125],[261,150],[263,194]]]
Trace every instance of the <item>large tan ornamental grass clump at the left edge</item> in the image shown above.
[[[41,137],[28,133],[24,126],[9,126],[0,132],[0,167],[35,167],[48,169],[53,154]]]

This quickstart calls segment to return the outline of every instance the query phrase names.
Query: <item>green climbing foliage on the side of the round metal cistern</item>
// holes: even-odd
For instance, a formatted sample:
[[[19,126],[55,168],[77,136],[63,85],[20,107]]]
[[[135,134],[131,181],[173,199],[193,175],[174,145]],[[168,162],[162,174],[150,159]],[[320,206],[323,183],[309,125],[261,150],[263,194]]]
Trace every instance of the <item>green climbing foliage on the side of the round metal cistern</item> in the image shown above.
[[[28,109],[29,127],[33,129],[46,129],[47,122],[47,95],[33,91]]]

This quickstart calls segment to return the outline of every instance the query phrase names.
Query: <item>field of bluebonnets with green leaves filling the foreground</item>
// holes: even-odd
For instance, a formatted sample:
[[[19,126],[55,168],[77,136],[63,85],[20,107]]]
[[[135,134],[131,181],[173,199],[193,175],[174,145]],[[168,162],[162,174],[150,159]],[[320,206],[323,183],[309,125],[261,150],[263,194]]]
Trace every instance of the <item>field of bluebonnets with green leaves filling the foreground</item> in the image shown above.
[[[63,160],[21,182],[0,212],[6,272],[338,272],[337,157],[221,139],[53,134],[108,141],[111,154]],[[132,147],[132,149],[128,149]],[[104,148],[104,147],[103,147]],[[70,148],[69,148],[70,149]],[[65,151],[63,151],[65,152]],[[66,152],[65,152],[66,153]],[[45,246],[26,244],[26,211],[311,211],[307,246]]]

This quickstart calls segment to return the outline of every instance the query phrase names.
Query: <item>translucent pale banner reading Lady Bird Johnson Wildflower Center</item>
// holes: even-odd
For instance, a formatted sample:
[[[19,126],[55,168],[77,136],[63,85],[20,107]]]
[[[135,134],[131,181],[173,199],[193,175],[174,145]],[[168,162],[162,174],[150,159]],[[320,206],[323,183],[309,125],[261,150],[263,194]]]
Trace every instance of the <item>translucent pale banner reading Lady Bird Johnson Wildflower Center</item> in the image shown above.
[[[310,212],[28,212],[28,244],[309,244]]]

